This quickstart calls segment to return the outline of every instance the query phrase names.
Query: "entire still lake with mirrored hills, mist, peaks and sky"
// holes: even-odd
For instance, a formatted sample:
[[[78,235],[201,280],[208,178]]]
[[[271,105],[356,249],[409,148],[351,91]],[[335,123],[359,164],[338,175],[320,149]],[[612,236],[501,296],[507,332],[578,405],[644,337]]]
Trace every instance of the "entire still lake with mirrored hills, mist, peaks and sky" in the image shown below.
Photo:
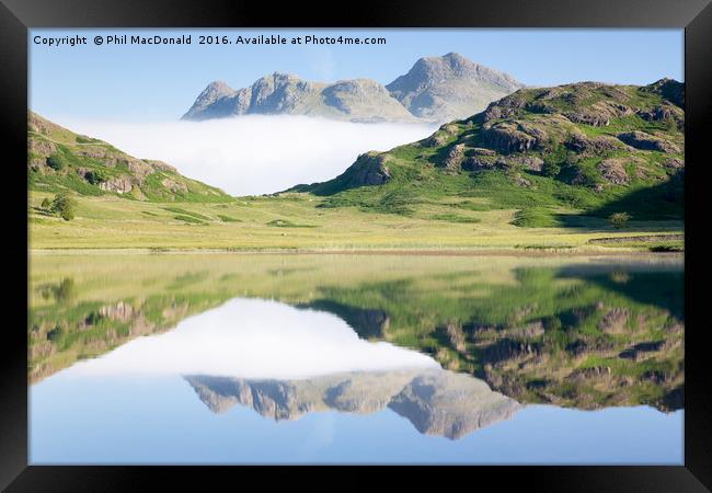
[[[36,254],[30,462],[684,463],[681,256]]]

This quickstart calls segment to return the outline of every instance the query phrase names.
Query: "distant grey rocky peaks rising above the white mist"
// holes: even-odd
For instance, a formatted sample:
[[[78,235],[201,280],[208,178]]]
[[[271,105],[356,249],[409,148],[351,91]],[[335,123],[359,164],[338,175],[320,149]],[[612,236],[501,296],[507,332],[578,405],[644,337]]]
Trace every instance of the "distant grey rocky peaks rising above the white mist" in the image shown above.
[[[310,82],[275,72],[234,90],[210,82],[183,119],[248,114],[317,115],[355,122],[447,122],[476,113],[524,85],[461,55],[421,58],[383,87],[370,79]]]

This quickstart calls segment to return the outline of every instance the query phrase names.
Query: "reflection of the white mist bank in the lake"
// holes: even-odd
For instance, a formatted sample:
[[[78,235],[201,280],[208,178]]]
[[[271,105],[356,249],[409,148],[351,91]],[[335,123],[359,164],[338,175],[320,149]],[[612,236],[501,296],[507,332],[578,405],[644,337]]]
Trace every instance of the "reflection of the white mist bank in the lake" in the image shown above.
[[[369,342],[338,317],[277,301],[233,299],[159,335],[135,339],[65,376],[211,375],[300,379],[346,371],[439,368],[429,356]]]

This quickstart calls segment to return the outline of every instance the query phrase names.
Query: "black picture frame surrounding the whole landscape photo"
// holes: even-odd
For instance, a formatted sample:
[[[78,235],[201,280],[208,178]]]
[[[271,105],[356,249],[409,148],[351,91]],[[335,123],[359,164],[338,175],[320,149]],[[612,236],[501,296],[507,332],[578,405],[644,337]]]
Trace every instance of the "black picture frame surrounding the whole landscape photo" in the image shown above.
[[[685,383],[685,466],[680,467],[480,467],[458,468],[458,480],[472,484],[508,486],[515,483],[530,490],[546,491],[709,491],[712,488],[712,405],[704,332],[699,307],[703,290],[691,288],[702,280],[703,251],[699,231],[690,225],[697,206],[692,197],[704,198],[700,180],[708,147],[704,124],[712,114],[712,4],[710,0],[522,0],[393,1],[377,4],[372,0],[321,7],[307,2],[285,2],[279,7],[244,0],[1,0],[0,53],[3,98],[0,122],[5,140],[4,197],[12,204],[27,202],[26,187],[15,185],[26,180],[27,117],[27,30],[34,27],[677,27],[685,28],[686,83],[686,383]],[[319,12],[315,14],[314,12]],[[26,282],[27,237],[26,207],[8,207],[5,223],[16,228],[8,232],[5,251],[15,268],[16,286]],[[24,231],[24,232],[23,232]],[[700,236],[698,236],[700,234]],[[24,251],[23,251],[24,249]],[[12,255],[12,256],[10,256]],[[25,259],[21,261],[20,259]],[[693,263],[690,263],[693,259]],[[694,265],[694,270],[690,266]],[[692,271],[692,272],[691,272]],[[13,279],[15,280],[15,279]],[[8,283],[15,286],[15,283]],[[18,288],[14,296],[25,296]],[[12,294],[12,293],[11,293]],[[177,480],[206,489],[209,481],[229,481],[260,474],[274,482],[282,479],[290,488],[299,486],[314,468],[288,468],[274,474],[261,467],[186,468],[186,467],[44,467],[27,466],[27,351],[22,326],[21,300],[10,303],[16,321],[3,330],[4,357],[1,359],[0,389],[4,397],[0,414],[0,486],[7,491],[125,491],[145,484],[148,478]],[[26,313],[25,313],[26,317]],[[699,323],[698,323],[699,322]],[[26,319],[25,319],[26,325]],[[354,486],[369,483],[374,468],[333,467],[341,481]],[[378,469],[381,470],[381,469]],[[198,473],[196,473],[196,471]],[[452,471],[455,472],[455,471]],[[409,468],[407,477],[425,486],[443,486],[446,474],[427,468]],[[461,475],[460,475],[461,474]],[[230,483],[228,483],[230,484]],[[332,489],[325,482],[310,480],[312,490]],[[467,483],[466,483],[467,484]],[[267,488],[271,490],[272,488]],[[274,491],[274,490],[273,490]]]

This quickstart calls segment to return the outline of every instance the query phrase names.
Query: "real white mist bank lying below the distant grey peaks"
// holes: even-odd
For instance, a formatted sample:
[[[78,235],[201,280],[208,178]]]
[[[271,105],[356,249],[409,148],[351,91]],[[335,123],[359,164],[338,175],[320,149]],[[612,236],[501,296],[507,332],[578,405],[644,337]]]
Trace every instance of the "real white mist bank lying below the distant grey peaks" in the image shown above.
[[[231,195],[267,194],[331,180],[363,152],[420,140],[437,128],[287,115],[152,123],[60,118],[57,123],[137,158],[165,161]]]

